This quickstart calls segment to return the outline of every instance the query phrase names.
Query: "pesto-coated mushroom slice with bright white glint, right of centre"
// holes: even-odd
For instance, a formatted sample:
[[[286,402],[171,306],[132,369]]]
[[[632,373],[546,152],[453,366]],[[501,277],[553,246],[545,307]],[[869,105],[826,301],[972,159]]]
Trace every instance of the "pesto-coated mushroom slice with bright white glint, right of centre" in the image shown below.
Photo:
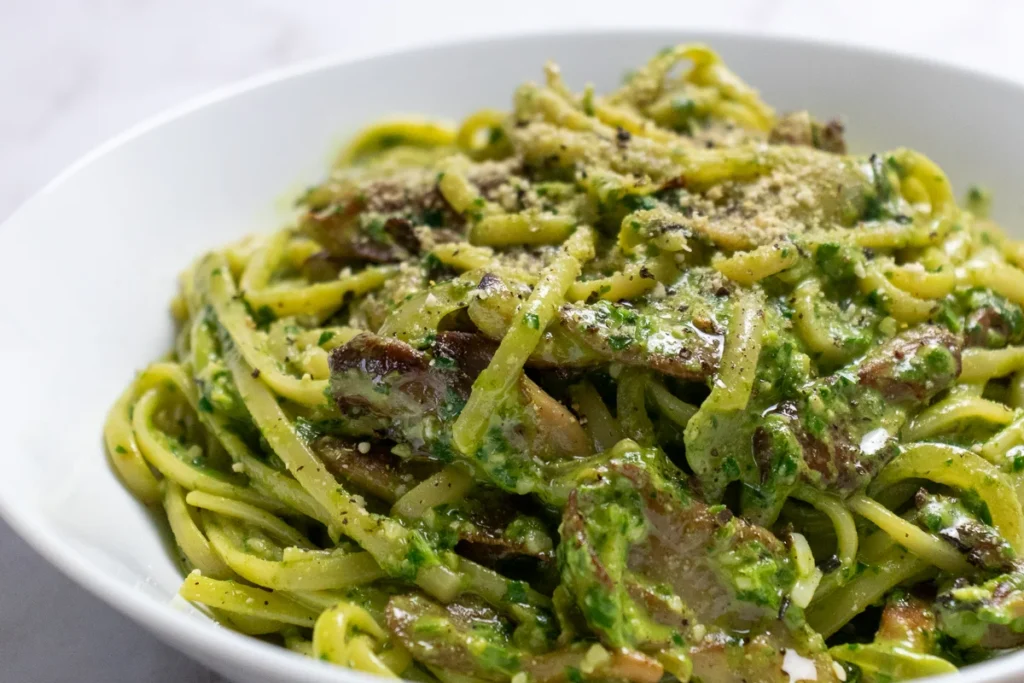
[[[944,329],[914,328],[796,387],[796,398],[698,414],[686,428],[686,459],[712,500],[741,479],[743,514],[756,519],[774,519],[801,479],[849,495],[895,457],[909,411],[955,381],[962,344]]]

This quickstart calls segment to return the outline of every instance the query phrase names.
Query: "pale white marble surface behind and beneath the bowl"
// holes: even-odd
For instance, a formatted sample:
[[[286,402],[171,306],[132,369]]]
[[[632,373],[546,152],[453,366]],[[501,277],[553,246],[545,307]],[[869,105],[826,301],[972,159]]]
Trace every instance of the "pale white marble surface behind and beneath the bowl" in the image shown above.
[[[1024,3],[1015,0],[0,0],[0,219],[126,126],[221,84],[332,53],[527,30],[678,26],[868,45],[1024,81],[1022,25]],[[0,681],[216,680],[51,569],[0,522]]]

